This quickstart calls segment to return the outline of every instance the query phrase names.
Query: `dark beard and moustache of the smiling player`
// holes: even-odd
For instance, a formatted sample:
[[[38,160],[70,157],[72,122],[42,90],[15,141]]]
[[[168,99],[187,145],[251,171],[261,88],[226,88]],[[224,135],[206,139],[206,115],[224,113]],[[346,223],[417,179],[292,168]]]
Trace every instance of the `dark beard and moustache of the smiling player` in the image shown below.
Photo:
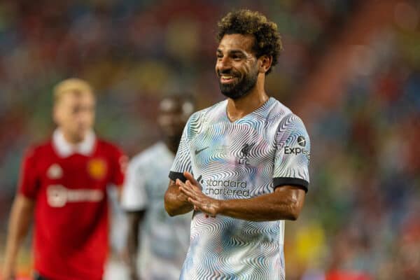
[[[221,88],[221,92],[225,97],[229,97],[231,99],[239,99],[241,97],[244,97],[246,94],[248,94],[253,87],[255,87],[255,84],[257,83],[258,78],[258,71],[251,72],[248,75],[244,76],[239,80],[237,83],[221,83],[220,77],[222,74],[228,74],[228,75],[235,75],[235,72],[232,71],[221,71],[218,73],[219,77],[219,87]]]

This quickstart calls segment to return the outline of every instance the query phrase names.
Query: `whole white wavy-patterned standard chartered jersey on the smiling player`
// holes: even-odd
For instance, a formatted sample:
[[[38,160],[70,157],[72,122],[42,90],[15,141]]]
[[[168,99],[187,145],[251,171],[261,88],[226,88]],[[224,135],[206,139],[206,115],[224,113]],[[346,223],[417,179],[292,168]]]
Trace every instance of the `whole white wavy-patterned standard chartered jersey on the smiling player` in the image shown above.
[[[191,168],[202,179],[203,192],[223,200],[272,193],[274,177],[309,180],[307,157],[284,149],[309,151],[300,118],[270,98],[231,123],[226,105],[220,102],[188,120],[172,172]],[[304,147],[299,137],[307,140]],[[283,232],[283,221],[205,218],[196,212],[181,279],[284,279]]]

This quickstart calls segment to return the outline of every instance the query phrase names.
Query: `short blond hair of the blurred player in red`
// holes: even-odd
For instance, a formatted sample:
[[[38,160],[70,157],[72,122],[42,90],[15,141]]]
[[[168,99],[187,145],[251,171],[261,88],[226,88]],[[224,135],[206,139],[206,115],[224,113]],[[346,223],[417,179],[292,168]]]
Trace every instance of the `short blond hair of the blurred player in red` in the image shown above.
[[[94,96],[93,88],[87,81],[80,78],[68,78],[57,83],[52,90],[54,104],[57,104],[63,95],[68,93],[92,94]]]

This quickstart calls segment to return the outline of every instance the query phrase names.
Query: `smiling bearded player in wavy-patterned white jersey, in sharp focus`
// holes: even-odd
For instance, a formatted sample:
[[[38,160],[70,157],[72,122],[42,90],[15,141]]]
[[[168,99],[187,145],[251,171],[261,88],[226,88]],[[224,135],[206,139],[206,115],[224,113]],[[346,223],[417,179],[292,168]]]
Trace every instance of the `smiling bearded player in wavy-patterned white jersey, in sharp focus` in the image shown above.
[[[169,173],[165,208],[193,211],[181,279],[284,279],[284,220],[309,185],[309,137],[265,92],[281,51],[274,22],[238,10],[218,24],[216,73],[223,102],[194,113]]]

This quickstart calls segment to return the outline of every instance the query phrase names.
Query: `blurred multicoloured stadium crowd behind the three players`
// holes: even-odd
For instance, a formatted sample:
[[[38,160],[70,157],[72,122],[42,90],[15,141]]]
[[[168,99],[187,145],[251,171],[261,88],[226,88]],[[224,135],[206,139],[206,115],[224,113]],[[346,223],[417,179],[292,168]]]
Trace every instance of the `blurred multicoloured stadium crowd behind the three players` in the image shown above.
[[[340,48],[344,31],[356,30],[357,38],[358,15],[374,20],[363,9],[375,2],[391,3],[391,13],[363,44],[351,46],[337,92],[309,90],[315,102],[302,119],[311,136],[311,185],[299,220],[286,225],[286,276],[419,279],[420,3],[414,0],[1,1],[1,246],[22,152],[54,129],[57,81],[90,81],[98,94],[98,134],[134,155],[158,139],[162,95],[192,93],[200,109],[223,99],[214,73],[215,29],[228,10],[260,10],[278,24],[284,52],[267,92],[299,114],[304,86]],[[332,79],[322,76],[321,83]],[[330,99],[330,106],[317,99]]]

